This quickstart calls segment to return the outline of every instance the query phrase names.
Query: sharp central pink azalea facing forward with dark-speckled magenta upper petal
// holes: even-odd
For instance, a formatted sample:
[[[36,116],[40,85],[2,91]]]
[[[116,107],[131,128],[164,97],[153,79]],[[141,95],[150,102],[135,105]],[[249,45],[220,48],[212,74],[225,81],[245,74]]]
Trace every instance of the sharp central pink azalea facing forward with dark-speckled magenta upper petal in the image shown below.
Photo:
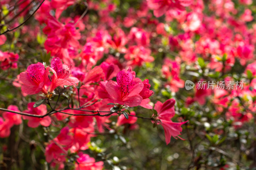
[[[144,87],[140,78],[134,78],[131,71],[123,69],[117,73],[116,81],[109,80],[106,84],[110,97],[121,105],[129,107],[140,105],[142,97],[139,93]]]

